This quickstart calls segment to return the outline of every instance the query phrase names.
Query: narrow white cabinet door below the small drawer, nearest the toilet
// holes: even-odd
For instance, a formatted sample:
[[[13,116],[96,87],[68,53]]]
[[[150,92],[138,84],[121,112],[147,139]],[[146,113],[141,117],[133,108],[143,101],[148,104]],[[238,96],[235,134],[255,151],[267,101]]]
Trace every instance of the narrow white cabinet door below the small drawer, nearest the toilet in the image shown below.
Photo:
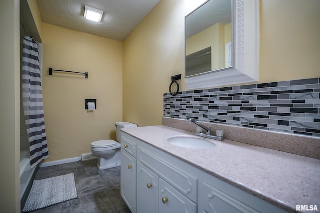
[[[130,209],[136,210],[136,159],[121,149],[120,168],[120,192],[121,197]]]

